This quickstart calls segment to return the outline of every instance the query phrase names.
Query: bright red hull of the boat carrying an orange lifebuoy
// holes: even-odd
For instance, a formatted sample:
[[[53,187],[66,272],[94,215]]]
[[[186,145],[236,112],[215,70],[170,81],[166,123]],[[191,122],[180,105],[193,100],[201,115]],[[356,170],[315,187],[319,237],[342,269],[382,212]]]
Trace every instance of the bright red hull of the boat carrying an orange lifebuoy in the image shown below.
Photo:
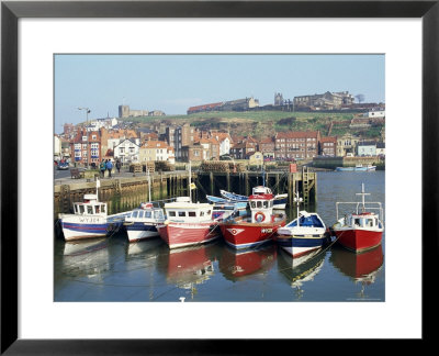
[[[285,220],[280,222],[260,223],[223,223],[221,232],[225,242],[234,248],[249,248],[272,241],[279,227],[285,225]]]

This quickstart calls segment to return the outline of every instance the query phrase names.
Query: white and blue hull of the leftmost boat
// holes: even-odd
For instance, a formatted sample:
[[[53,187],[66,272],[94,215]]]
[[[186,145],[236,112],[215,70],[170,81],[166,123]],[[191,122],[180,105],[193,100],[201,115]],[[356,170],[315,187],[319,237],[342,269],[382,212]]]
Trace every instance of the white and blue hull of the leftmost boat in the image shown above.
[[[60,224],[66,241],[104,237],[109,227],[104,216],[65,216]]]

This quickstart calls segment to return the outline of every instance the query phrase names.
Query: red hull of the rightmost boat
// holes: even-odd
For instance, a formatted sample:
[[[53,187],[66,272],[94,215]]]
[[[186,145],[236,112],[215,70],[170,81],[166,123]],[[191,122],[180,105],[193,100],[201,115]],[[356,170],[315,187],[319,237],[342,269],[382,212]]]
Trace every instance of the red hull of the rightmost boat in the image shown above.
[[[350,251],[361,253],[381,244],[383,232],[365,229],[335,229],[337,242]]]

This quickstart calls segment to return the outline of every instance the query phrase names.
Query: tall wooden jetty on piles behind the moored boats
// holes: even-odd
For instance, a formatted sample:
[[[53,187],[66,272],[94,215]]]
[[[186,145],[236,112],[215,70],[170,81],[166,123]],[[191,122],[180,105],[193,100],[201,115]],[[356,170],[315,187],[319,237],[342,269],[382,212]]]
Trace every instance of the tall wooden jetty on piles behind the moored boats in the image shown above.
[[[110,214],[138,207],[145,201],[167,201],[189,196],[189,173],[187,170],[135,174],[133,177],[113,177],[100,180],[99,200],[108,202]],[[273,193],[289,193],[289,204],[293,205],[294,193],[299,190],[304,203],[316,202],[317,174],[302,168],[297,173],[264,171],[264,183]],[[151,185],[151,197],[148,197]],[[194,200],[204,201],[206,194],[219,197],[224,189],[238,194],[249,196],[251,188],[263,183],[262,173],[243,171],[192,171],[192,182],[196,190]],[[94,179],[75,179],[54,186],[54,220],[58,213],[72,211],[75,201],[81,201],[83,194],[95,192]]]

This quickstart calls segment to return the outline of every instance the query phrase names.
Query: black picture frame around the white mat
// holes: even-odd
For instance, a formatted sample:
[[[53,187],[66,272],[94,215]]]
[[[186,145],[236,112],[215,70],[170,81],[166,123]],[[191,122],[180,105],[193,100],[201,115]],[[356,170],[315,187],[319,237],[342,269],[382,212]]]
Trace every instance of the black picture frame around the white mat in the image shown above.
[[[19,340],[18,21],[21,18],[420,18],[423,20],[423,337],[437,311],[431,285],[438,237],[439,1],[2,1],[1,353],[5,355],[247,354],[262,340]],[[409,48],[407,48],[409,51]],[[404,174],[404,173],[402,173]],[[403,178],[402,178],[403,179]],[[409,196],[409,191],[407,191]],[[409,204],[409,201],[407,202]],[[409,205],[407,205],[409,209]],[[414,227],[416,229],[416,227]],[[407,256],[409,258],[409,256]],[[407,260],[407,268],[409,262]],[[401,271],[403,272],[403,271]],[[407,281],[407,288],[409,281]],[[403,311],[402,311],[403,312]],[[271,318],[269,318],[271,320]],[[214,319],[212,320],[214,322]],[[274,325],[273,325],[274,326]],[[297,341],[294,341],[297,342]],[[417,342],[417,341],[415,341]],[[277,341],[279,347],[289,341]],[[285,349],[286,351],[286,349]],[[291,351],[291,349],[290,349]]]

